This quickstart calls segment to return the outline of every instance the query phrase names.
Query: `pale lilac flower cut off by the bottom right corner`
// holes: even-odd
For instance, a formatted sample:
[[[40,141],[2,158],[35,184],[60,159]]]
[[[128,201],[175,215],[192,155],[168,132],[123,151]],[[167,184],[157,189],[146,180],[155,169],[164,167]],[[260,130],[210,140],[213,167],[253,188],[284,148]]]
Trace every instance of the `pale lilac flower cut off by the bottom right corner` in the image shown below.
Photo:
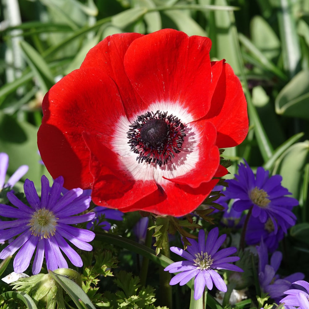
[[[298,309],[308,309],[309,308],[309,283],[304,280],[298,280],[293,282],[298,286],[301,286],[303,290],[293,289],[287,290],[284,294],[286,297],[282,298],[280,303],[285,303],[284,307],[293,306],[298,307]]]

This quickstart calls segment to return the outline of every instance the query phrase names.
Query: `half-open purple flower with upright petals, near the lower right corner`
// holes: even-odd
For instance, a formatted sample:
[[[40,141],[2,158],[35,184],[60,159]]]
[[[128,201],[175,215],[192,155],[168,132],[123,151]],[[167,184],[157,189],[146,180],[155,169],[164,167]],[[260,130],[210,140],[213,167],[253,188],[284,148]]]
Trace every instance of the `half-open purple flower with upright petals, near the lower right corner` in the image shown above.
[[[270,295],[275,302],[279,302],[283,296],[284,291],[290,288],[291,284],[295,280],[301,280],[305,277],[303,273],[294,273],[285,278],[280,278],[276,274],[282,260],[282,253],[276,251],[270,258],[270,264],[268,264],[268,252],[263,241],[260,246],[256,246],[259,255],[259,282],[261,289]]]

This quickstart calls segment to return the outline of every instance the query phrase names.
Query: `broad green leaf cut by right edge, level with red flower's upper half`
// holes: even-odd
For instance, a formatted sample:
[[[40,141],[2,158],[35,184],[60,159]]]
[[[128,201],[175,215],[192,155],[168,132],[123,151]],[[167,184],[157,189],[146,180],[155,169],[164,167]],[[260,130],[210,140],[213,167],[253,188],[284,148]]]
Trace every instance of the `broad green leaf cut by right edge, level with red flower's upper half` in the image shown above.
[[[277,114],[309,119],[309,70],[296,74],[275,100]]]

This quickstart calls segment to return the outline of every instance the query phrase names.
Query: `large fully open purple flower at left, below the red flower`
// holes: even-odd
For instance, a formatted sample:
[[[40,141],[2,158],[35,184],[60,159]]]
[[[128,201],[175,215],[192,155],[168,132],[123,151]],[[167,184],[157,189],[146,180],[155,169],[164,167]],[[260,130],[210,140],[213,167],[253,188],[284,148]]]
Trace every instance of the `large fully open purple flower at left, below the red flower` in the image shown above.
[[[40,272],[44,255],[47,269],[68,268],[62,252],[73,265],[81,267],[82,259],[65,239],[77,248],[92,250],[88,242],[94,239],[95,234],[68,225],[86,222],[95,216],[94,213],[75,216],[87,210],[91,197],[82,196],[83,190],[80,188],[72,189],[62,196],[62,176],[54,180],[51,188],[48,179],[42,176],[41,185],[41,198],[39,198],[33,182],[26,179],[24,191],[30,206],[11,192],[7,193],[7,198],[16,207],[0,204],[0,215],[16,218],[1,222],[0,227],[0,242],[18,235],[0,252],[0,259],[5,259],[20,248],[13,262],[16,273],[22,273],[28,268],[35,249],[33,274]]]

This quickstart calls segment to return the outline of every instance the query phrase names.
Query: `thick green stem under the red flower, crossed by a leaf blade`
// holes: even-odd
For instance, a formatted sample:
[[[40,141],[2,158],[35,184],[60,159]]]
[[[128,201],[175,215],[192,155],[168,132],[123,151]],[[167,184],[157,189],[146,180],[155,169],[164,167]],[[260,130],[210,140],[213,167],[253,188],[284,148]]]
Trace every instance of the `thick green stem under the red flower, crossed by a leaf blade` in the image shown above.
[[[162,243],[162,251],[164,256],[170,258],[170,246],[167,241],[163,241]],[[164,271],[163,267],[159,267],[159,281],[160,281],[160,289],[159,289],[159,299],[163,306],[167,306],[168,308],[172,308],[172,288],[170,286],[171,274],[167,271]]]

